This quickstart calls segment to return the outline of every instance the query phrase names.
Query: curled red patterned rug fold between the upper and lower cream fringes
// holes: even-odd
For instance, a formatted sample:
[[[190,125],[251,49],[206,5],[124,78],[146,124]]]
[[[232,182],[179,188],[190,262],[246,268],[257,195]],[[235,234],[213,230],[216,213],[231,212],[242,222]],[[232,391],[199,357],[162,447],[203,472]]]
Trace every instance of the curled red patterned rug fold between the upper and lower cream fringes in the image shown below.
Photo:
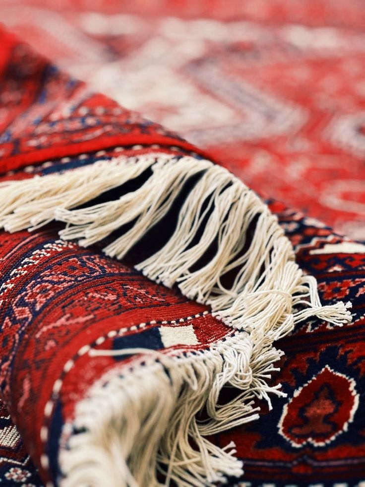
[[[30,237],[2,232],[0,249],[1,399],[43,478],[50,470],[56,476],[62,424],[91,384],[121,359],[105,357],[91,368],[90,347],[198,353],[233,333],[206,306],[101,251],[59,240],[55,230]]]

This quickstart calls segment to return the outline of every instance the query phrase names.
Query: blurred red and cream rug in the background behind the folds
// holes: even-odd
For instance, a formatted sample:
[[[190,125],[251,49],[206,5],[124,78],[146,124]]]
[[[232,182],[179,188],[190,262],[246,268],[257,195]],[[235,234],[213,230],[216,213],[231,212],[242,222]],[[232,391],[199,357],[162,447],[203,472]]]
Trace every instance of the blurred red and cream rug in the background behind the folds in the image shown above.
[[[0,20],[260,195],[365,239],[362,1],[2,0]]]

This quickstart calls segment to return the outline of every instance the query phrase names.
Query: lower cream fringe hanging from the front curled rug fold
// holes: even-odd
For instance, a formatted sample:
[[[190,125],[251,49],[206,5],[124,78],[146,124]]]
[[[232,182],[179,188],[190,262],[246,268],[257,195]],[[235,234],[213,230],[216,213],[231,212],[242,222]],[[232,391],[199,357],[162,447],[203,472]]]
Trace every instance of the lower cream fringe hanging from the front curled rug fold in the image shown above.
[[[224,348],[239,342],[250,347],[250,337],[242,334]],[[210,432],[196,420],[196,414],[210,403],[211,390],[224,368],[224,348],[220,345],[183,358],[149,349],[91,350],[91,356],[141,353],[143,357],[124,370],[107,373],[76,406],[76,419],[65,429],[82,432],[63,434],[60,464],[65,478],[61,485],[154,487],[174,480],[179,486],[213,487],[225,482],[227,475],[242,475],[234,445],[216,447],[202,436]],[[148,355],[159,363],[149,362]],[[240,352],[232,366],[244,373],[239,362]],[[245,359],[243,363],[247,373],[249,363]],[[228,426],[258,418],[258,408],[252,407],[254,395],[246,391],[244,396],[246,404],[242,397],[232,401],[240,418],[231,417]],[[219,410],[216,405],[211,408]],[[191,438],[199,450],[191,446]],[[123,459],[128,459],[128,465]],[[164,484],[157,480],[157,471],[166,478]]]

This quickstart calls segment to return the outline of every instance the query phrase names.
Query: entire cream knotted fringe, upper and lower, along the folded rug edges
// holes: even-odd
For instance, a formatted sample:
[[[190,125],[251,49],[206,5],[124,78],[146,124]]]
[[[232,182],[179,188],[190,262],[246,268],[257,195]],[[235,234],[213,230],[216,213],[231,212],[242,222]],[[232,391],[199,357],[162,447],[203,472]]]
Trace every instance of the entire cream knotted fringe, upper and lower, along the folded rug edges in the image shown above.
[[[146,169],[151,173],[135,191],[86,206]],[[96,384],[77,407],[82,432],[61,449],[66,486],[154,486],[157,471],[167,484],[175,480],[179,486],[211,486],[241,475],[234,449],[220,449],[204,436],[256,419],[255,398],[271,408],[269,393],[283,395],[267,383],[282,355],[272,344],[296,323],[309,316],[335,325],[351,321],[349,303],[321,306],[316,281],[294,262],[276,216],[240,180],[207,160],[143,155],[6,182],[0,185],[0,224],[8,231],[34,229],[56,218],[67,223],[61,238],[84,246],[123,227],[104,249],[122,259],[163,220],[192,180],[173,234],[136,267],[209,304],[236,336],[199,356],[159,354],[163,367],[153,362],[143,374],[136,367],[103,387]],[[219,405],[227,385],[241,393]],[[99,409],[105,401],[108,407]],[[208,418],[198,422],[203,408]]]

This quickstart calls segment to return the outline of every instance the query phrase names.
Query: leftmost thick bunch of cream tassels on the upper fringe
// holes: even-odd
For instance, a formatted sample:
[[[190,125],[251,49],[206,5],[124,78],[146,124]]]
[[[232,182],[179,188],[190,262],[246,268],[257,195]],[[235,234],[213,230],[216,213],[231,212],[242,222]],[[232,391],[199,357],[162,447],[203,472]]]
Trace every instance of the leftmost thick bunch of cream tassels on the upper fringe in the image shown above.
[[[156,158],[98,161],[63,174],[0,183],[0,228],[29,231],[55,219],[55,209],[75,208],[136,178]]]

